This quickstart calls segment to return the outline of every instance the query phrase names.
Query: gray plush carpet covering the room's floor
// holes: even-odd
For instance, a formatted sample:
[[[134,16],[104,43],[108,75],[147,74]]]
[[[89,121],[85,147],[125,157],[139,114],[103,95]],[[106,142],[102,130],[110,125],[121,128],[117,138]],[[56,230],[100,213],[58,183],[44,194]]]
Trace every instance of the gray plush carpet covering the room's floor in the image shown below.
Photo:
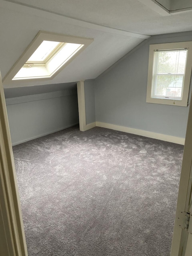
[[[183,146],[105,128],[13,147],[29,256],[168,256]]]

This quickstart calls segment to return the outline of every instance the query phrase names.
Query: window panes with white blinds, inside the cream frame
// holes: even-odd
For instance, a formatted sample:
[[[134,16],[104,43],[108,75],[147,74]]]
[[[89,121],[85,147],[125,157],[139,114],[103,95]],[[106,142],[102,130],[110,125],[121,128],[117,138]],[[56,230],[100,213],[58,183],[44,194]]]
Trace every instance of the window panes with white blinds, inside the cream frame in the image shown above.
[[[187,49],[154,52],[151,98],[182,101]]]

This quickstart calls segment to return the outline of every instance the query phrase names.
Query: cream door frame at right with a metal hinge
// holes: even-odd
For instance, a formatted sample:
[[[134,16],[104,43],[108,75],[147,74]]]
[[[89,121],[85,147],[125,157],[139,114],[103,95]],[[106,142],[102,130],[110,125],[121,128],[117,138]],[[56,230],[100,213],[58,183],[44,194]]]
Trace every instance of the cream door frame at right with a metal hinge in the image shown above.
[[[181,226],[181,219],[185,221],[185,213],[189,212],[188,206],[191,200],[191,176],[192,175],[192,95],[189,104],[189,115],[183,152],[179,192],[177,199],[175,225],[173,231],[171,256],[185,255],[188,232]],[[192,213],[190,212],[190,215]]]

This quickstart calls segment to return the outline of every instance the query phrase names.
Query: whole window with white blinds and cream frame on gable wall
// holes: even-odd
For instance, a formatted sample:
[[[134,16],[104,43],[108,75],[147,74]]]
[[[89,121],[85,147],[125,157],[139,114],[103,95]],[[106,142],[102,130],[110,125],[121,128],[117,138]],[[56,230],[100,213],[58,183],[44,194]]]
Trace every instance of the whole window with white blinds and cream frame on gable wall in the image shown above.
[[[187,106],[192,67],[192,42],[151,44],[147,100]]]

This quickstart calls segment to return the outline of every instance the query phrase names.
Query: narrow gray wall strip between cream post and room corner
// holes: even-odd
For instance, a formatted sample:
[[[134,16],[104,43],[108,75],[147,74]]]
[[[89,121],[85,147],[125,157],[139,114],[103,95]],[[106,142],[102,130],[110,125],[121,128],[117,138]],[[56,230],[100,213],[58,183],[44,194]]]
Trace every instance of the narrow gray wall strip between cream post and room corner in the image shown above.
[[[85,80],[85,116],[86,125],[95,122],[95,81]]]

